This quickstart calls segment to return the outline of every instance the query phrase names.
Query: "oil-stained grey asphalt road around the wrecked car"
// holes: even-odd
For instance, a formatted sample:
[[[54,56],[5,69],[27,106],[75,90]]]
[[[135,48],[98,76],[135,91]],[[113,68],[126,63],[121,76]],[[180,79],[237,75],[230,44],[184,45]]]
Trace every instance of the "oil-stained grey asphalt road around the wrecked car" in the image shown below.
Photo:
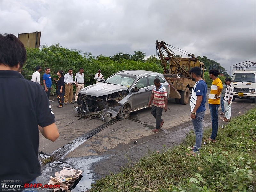
[[[209,91],[208,91],[209,93]],[[99,119],[79,119],[73,107],[67,104],[57,108],[57,101],[50,101],[55,114],[60,137],[51,142],[40,135],[39,150],[43,154],[55,155],[60,164],[42,166],[42,176],[38,181],[47,184],[49,176],[54,176],[62,167],[72,167],[84,171],[84,180],[80,181],[72,191],[86,191],[90,183],[110,172],[117,173],[128,161],[135,161],[150,151],[161,151],[180,144],[189,130],[193,129],[190,119],[190,105],[176,104],[168,99],[168,110],[163,112],[165,120],[158,133],[153,133],[155,119],[150,108],[131,113],[128,119],[113,122],[111,125]],[[236,99],[232,104],[231,117],[245,113],[256,107],[252,100]],[[219,108],[221,111],[221,107]],[[208,103],[204,117],[204,129],[211,127]],[[219,121],[219,126],[227,122]],[[98,132],[97,132],[98,131]],[[95,133],[96,132],[96,133]],[[92,135],[92,133],[94,135]],[[92,135],[92,136],[91,136]],[[209,137],[209,136],[206,136]],[[134,141],[138,144],[134,144]],[[87,179],[86,179],[87,177]]]

